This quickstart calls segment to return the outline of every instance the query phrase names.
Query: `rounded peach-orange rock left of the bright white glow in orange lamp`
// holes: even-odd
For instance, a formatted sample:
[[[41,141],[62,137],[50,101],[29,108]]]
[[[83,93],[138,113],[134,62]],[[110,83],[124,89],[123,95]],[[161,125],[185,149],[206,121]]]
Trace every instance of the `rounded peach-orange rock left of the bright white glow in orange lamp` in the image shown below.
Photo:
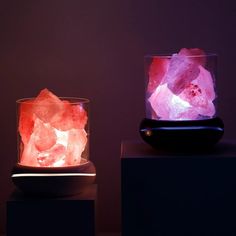
[[[53,127],[36,119],[34,126],[34,144],[41,152],[50,149],[56,144],[57,136]]]

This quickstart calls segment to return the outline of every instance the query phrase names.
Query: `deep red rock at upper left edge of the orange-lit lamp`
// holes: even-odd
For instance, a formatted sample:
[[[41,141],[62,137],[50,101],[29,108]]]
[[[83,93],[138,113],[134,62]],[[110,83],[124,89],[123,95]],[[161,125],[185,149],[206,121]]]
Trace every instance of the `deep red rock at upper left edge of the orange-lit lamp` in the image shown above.
[[[19,109],[18,129],[23,144],[27,144],[34,128],[33,100],[22,102]]]

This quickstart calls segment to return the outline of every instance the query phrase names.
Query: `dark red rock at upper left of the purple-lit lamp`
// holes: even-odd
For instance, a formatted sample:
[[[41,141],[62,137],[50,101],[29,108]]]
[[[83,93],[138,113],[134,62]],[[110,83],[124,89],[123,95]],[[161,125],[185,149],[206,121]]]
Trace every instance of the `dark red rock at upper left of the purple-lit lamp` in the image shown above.
[[[152,93],[162,82],[167,69],[169,67],[169,59],[154,57],[148,71],[148,87],[147,92]]]

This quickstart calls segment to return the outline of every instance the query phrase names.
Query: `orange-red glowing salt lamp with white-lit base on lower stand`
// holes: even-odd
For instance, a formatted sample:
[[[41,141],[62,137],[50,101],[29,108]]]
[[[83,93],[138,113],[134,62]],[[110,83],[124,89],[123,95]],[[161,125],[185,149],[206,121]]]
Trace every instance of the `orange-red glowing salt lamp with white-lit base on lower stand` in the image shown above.
[[[18,163],[13,182],[26,193],[70,195],[93,183],[89,160],[89,100],[43,89],[17,101]]]

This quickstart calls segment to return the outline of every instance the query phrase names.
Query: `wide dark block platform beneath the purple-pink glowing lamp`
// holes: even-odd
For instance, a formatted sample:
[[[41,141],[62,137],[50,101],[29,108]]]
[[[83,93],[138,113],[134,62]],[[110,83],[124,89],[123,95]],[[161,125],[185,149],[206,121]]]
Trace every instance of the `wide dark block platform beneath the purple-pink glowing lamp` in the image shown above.
[[[121,150],[122,236],[236,235],[236,141],[199,150]]]

